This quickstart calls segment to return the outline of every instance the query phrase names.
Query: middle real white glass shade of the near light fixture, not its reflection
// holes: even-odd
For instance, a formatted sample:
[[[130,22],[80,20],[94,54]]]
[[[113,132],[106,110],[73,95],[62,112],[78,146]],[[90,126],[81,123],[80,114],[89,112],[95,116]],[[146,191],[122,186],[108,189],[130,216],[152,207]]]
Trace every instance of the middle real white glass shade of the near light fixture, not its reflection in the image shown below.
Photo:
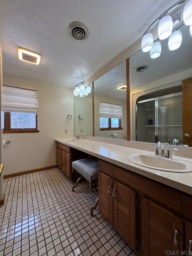
[[[158,24],[158,36],[163,40],[168,38],[173,31],[173,20],[170,15],[164,16]]]

